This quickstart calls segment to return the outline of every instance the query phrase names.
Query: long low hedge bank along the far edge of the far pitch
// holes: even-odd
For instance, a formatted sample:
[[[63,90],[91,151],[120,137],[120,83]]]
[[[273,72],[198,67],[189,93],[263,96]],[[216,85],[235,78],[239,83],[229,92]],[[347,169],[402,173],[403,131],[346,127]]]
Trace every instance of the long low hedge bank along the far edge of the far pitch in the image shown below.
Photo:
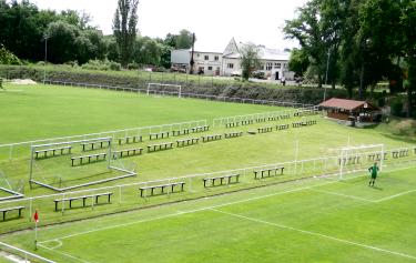
[[[43,80],[44,72],[39,68],[31,67],[0,67],[0,77],[8,79],[32,79],[41,82]],[[129,75],[113,75],[101,72],[89,73],[89,72],[74,72],[74,71],[60,71],[53,70],[48,71],[47,79],[51,81],[64,81],[75,83],[88,83],[88,84],[102,84],[102,85],[119,85],[129,88],[145,89],[148,83],[151,82],[149,79],[140,79]],[[303,88],[303,87],[291,87],[291,88],[270,88],[262,87],[253,82],[221,82],[221,81],[172,81],[166,80],[164,83],[181,84],[182,92],[186,93],[199,93],[210,95],[223,95],[231,98],[246,98],[255,100],[278,100],[285,102],[295,102],[304,104],[317,104],[322,102],[324,97],[324,89],[316,88]],[[345,90],[333,90],[327,89],[326,98],[346,98],[347,93]]]

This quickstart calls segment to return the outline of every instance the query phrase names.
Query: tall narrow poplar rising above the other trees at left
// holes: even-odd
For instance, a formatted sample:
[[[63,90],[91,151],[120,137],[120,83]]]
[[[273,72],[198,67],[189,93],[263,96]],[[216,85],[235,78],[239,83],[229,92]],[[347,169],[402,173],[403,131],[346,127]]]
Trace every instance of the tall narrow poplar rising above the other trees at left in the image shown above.
[[[139,0],[119,0],[113,20],[113,31],[120,61],[126,67],[132,59],[138,26]]]

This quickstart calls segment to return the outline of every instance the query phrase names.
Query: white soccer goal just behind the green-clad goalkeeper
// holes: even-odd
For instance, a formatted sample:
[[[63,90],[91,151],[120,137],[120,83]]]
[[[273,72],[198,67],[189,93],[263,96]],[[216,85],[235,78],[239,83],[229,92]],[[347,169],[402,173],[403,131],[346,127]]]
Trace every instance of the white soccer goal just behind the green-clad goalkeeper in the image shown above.
[[[339,180],[348,172],[359,171],[366,169],[374,162],[379,163],[379,170],[383,170],[385,160],[385,145],[352,145],[341,148],[338,152],[337,162],[339,165]]]

